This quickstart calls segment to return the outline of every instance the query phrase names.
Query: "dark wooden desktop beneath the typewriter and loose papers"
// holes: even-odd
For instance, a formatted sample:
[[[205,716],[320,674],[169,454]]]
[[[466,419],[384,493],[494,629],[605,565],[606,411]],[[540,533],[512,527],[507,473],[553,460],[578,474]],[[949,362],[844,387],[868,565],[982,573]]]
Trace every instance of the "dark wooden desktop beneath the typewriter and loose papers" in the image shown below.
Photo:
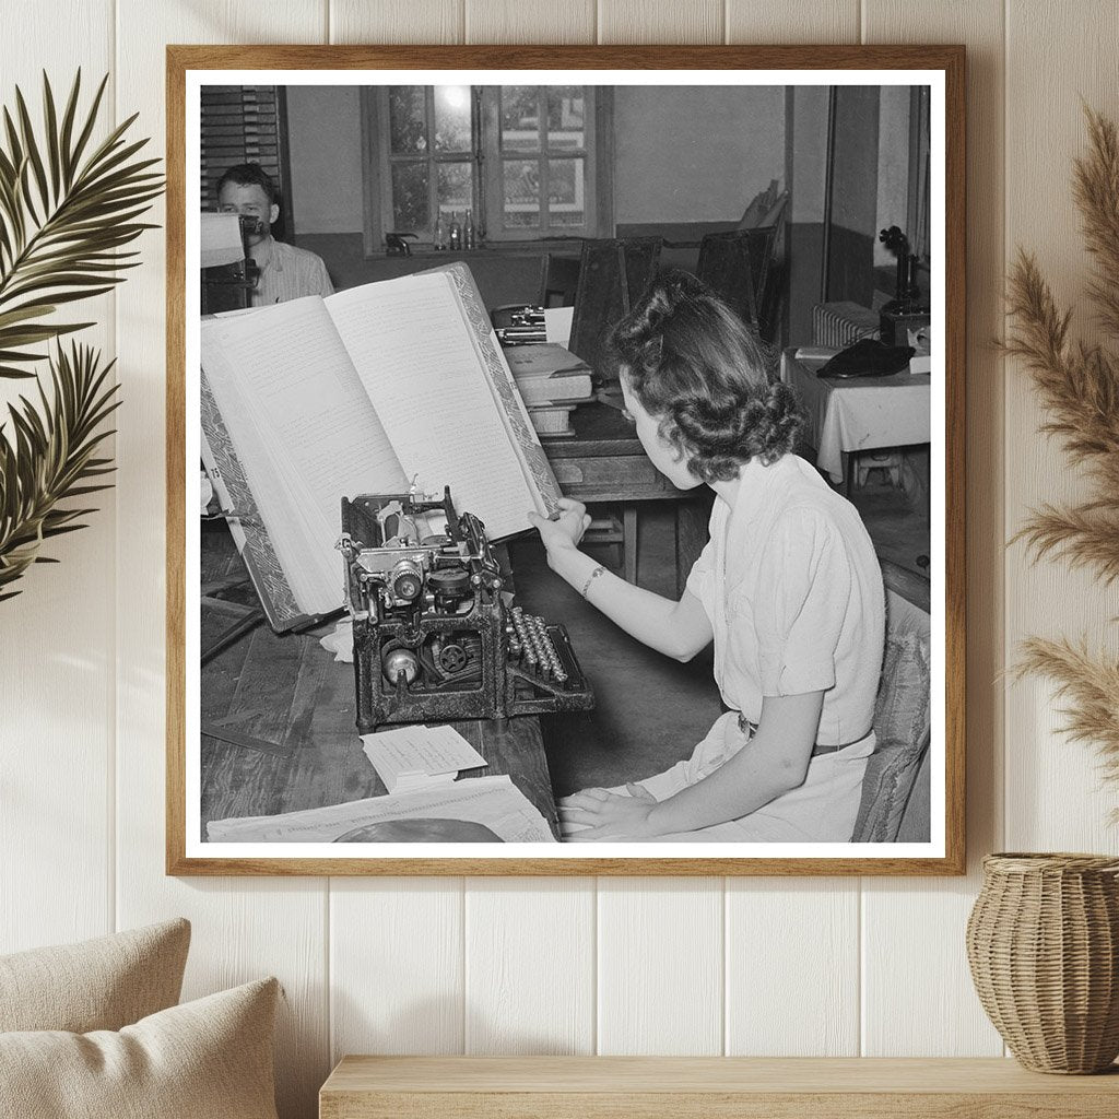
[[[244,570],[228,534],[222,534],[224,540],[214,539],[213,530],[207,535],[211,538],[204,547],[204,581],[222,565]],[[217,611],[204,609],[203,645],[207,628],[220,629],[227,622]],[[201,736],[201,838],[209,820],[383,796],[385,788],[361,751],[355,720],[354,666],[336,664],[316,634],[280,636],[261,624],[218,653],[201,669],[204,728],[217,724],[223,736]],[[508,773],[558,838],[539,720],[518,716],[451,725],[489,762],[473,775]]]

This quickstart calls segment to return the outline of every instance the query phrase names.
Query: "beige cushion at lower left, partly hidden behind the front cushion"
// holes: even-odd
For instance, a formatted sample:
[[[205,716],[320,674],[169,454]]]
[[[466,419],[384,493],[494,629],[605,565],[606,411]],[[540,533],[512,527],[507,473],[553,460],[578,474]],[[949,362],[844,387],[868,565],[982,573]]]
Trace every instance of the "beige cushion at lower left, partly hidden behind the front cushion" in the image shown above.
[[[0,956],[0,1032],[120,1029],[175,1006],[189,921]]]

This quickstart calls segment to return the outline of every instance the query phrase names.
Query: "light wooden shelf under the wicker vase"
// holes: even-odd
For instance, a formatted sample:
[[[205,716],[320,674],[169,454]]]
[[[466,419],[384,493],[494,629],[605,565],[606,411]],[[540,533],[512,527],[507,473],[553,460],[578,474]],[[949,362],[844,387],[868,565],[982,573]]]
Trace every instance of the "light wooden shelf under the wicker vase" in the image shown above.
[[[320,1119],[1081,1119],[1119,1115],[1094,1076],[1010,1060],[344,1057]]]

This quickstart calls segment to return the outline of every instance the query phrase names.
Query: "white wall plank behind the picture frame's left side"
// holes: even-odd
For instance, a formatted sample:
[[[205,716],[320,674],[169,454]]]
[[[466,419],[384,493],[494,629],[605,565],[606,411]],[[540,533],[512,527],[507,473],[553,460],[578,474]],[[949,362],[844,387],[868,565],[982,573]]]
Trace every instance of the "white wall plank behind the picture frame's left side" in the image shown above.
[[[323,0],[282,7],[119,0],[117,113],[163,150],[167,43],[314,43]],[[162,208],[160,208],[160,215]],[[161,220],[161,216],[157,218]],[[164,271],[162,238],[144,246],[148,276]],[[326,883],[260,878],[196,882],[163,875],[163,285],[129,284],[119,299],[121,415],[117,528],[117,914],[121,927],[168,914],[194,923],[185,994],[275,975],[280,1102],[285,1117],[313,1115],[327,1066]]]

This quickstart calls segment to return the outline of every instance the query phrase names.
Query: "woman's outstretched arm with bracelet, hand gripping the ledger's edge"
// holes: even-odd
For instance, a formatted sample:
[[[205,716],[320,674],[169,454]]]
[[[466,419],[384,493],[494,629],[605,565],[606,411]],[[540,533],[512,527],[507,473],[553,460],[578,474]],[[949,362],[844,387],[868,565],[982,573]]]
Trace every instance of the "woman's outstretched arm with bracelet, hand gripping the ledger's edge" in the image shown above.
[[[643,591],[600,566],[579,551],[591,518],[585,506],[568,498],[560,501],[560,519],[545,520],[535,513],[529,520],[540,534],[548,566],[587,602],[643,645],[677,660],[690,660],[712,641],[711,620],[699,600],[685,591],[679,602]]]

